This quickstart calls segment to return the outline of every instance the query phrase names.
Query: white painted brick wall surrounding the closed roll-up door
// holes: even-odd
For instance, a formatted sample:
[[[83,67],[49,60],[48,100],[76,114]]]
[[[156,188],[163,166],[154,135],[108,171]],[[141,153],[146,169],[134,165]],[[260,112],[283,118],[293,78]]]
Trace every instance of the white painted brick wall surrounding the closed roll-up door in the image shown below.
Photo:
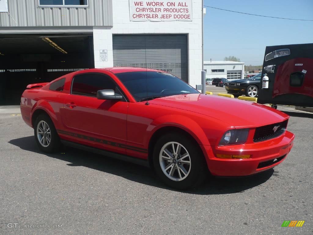
[[[201,84],[202,0],[192,0],[192,21],[130,21],[129,0],[113,0],[113,27],[94,27],[95,67],[112,67],[112,34],[188,34],[189,84]],[[100,61],[100,50],[108,50],[108,61]]]

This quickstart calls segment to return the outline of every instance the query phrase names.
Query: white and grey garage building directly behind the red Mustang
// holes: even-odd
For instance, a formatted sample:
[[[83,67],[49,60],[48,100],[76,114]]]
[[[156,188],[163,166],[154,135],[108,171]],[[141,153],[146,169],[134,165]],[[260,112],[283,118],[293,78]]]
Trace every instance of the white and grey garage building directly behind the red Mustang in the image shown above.
[[[0,105],[18,104],[29,83],[88,68],[147,67],[196,87],[202,10],[202,0],[0,1]]]

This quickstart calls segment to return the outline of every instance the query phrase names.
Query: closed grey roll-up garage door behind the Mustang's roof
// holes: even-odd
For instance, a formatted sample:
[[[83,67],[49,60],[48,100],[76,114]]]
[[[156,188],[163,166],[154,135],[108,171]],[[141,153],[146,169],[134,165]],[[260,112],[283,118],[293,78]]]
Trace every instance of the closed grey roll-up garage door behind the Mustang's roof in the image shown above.
[[[113,35],[113,64],[172,73],[188,82],[187,35]]]

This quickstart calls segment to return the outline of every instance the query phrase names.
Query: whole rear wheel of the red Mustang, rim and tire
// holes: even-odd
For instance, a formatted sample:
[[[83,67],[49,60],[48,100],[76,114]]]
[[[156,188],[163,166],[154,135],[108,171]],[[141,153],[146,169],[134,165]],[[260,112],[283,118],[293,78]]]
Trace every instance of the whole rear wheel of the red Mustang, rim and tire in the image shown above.
[[[40,114],[34,123],[34,136],[39,149],[46,153],[53,153],[61,146],[59,135],[50,117]]]

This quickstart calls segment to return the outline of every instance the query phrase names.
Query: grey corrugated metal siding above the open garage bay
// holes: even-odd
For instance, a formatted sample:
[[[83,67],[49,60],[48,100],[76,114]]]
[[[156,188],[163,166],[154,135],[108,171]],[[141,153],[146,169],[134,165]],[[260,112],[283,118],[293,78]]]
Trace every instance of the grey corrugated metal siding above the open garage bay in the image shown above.
[[[112,0],[89,0],[88,7],[40,7],[38,0],[8,0],[0,27],[113,26]]]

